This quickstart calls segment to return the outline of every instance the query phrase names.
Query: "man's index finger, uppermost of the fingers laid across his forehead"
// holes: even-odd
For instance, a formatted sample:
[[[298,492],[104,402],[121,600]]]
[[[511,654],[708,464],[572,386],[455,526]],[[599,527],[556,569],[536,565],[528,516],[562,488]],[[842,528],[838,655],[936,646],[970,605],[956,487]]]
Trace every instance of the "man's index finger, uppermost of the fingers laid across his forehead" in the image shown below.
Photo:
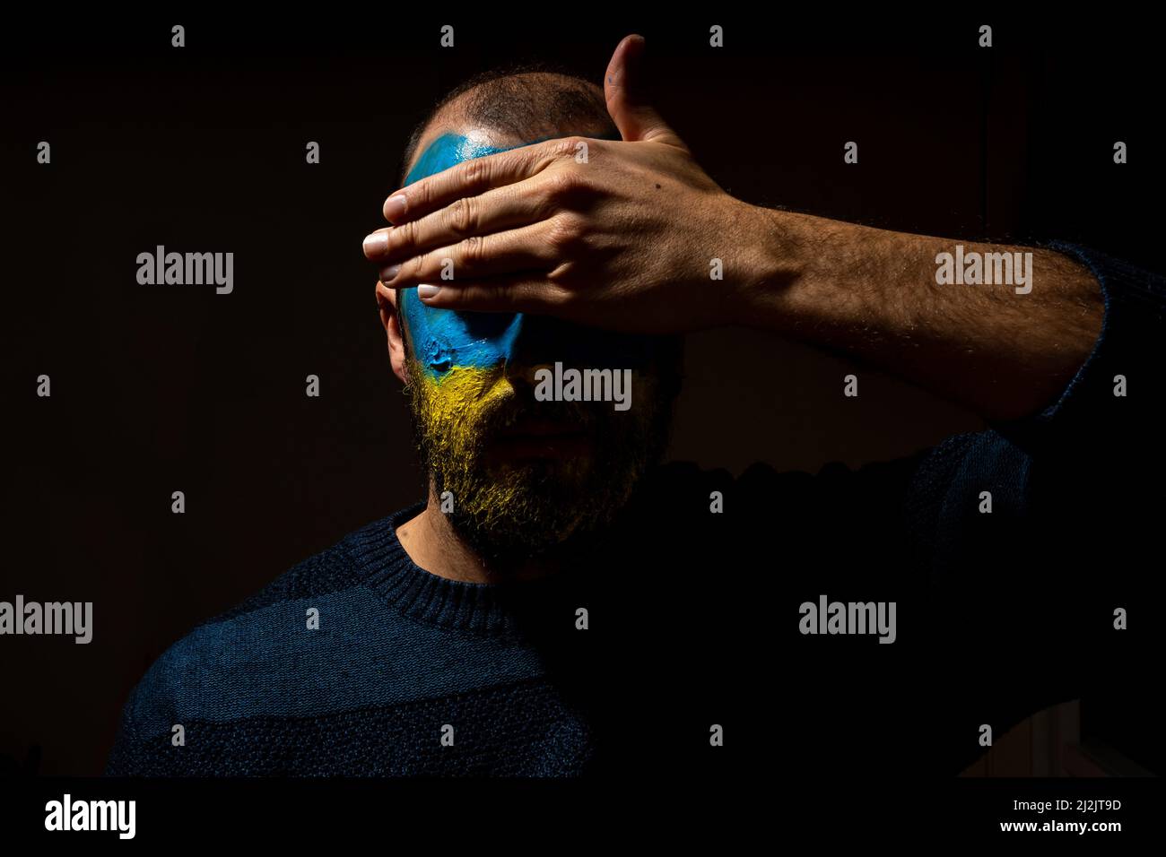
[[[394,190],[385,201],[382,213],[386,220],[399,226],[463,197],[477,196],[538,175],[561,157],[574,157],[584,141],[586,146],[599,142],[590,138],[564,136],[462,161]]]

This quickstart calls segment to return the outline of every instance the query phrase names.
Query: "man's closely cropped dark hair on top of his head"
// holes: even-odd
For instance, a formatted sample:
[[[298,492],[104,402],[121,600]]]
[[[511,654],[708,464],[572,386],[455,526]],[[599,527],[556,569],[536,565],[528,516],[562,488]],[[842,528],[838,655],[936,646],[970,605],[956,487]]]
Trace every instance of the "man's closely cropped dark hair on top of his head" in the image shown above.
[[[463,80],[426,113],[401,156],[402,184],[426,129],[459,98],[468,121],[519,140],[555,136],[564,128],[618,135],[598,84],[547,62],[508,63]]]

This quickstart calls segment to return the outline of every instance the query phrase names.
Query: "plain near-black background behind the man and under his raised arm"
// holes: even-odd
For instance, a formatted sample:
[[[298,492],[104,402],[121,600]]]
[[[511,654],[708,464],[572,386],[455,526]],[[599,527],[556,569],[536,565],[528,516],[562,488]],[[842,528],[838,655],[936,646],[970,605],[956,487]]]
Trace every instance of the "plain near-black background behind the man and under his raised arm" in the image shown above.
[[[0,757],[27,770],[99,773],[126,695],[171,642],[420,499],[360,239],[384,225],[413,124],[473,71],[542,58],[602,82],[641,33],[659,108],[744,199],[967,240],[1060,237],[1163,269],[1145,202],[1163,187],[1160,50],[1144,22],[350,14],[61,15],[0,36],[0,599],[90,600],[96,626],[86,646],[0,639]],[[725,48],[708,47],[711,23]],[[136,255],[159,244],[233,252],[233,294],[138,285]],[[857,465],[982,427],[750,331],[690,337],[687,371],[672,457],[733,472]],[[858,399],[842,396],[851,371]]]

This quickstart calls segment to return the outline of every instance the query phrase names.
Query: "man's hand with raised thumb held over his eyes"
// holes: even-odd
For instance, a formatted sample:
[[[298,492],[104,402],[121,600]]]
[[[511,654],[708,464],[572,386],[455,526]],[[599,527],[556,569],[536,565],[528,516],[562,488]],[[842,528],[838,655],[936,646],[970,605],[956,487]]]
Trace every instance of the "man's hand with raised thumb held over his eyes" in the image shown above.
[[[420,286],[433,307],[628,332],[739,321],[740,291],[761,276],[767,222],[717,187],[638,97],[642,47],[624,38],[604,82],[623,141],[549,140],[394,191],[385,203],[393,226],[365,243],[385,286]]]

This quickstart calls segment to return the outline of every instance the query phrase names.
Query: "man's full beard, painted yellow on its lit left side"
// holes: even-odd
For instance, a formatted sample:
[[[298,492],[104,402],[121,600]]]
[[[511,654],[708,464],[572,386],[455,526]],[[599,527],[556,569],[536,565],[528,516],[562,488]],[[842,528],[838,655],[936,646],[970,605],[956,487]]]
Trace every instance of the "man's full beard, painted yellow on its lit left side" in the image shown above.
[[[438,507],[466,545],[498,564],[569,555],[607,528],[663,456],[680,385],[674,363],[634,373],[632,407],[619,412],[610,401],[538,401],[533,387],[501,370],[454,368],[434,381],[410,356],[406,374],[414,443]],[[583,426],[589,454],[487,456],[500,429],[527,419]]]

